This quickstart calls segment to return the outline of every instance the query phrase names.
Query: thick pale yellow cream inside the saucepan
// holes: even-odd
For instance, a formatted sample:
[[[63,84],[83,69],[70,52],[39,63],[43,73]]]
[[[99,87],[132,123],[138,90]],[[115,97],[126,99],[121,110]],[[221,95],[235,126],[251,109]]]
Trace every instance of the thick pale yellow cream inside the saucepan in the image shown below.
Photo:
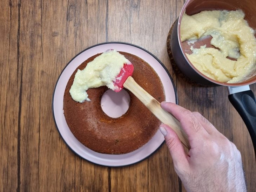
[[[202,11],[184,14],[181,20],[181,41],[188,43],[212,36],[215,48],[191,46],[189,61],[204,75],[219,82],[238,83],[251,77],[256,70],[255,31],[236,11]],[[192,41],[192,42],[190,42]],[[190,45],[189,44],[189,45]],[[230,60],[227,57],[234,58]]]

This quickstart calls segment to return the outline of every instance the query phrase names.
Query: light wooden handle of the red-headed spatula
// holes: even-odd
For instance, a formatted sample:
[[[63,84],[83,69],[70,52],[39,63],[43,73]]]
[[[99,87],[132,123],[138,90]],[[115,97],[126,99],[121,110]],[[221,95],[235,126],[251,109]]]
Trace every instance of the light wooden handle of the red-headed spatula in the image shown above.
[[[182,130],[180,122],[163,110],[160,103],[154,97],[140,87],[131,76],[124,82],[123,87],[130,90],[162,123],[169,125],[176,132],[181,142],[190,149],[188,136]]]

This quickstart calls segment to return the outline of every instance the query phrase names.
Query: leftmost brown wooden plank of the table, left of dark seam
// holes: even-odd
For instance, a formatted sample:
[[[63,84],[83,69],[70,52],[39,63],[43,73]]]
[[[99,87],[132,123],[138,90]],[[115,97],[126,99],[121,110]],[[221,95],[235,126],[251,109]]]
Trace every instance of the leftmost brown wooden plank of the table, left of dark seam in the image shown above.
[[[0,2],[0,191],[18,186],[20,84],[18,2]]]

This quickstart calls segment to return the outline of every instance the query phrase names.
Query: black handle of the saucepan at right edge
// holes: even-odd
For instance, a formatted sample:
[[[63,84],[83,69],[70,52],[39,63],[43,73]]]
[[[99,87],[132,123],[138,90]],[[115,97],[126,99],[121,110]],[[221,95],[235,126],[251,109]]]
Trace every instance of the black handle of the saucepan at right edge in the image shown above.
[[[256,100],[254,94],[251,90],[247,90],[230,94],[228,98],[247,126],[256,157]]]

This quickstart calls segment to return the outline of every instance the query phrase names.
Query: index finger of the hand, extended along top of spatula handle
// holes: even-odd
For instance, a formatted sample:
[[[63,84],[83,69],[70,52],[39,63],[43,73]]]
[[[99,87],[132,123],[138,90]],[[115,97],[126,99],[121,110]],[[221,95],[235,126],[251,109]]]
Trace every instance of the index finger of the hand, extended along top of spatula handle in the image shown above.
[[[175,103],[169,102],[162,102],[161,107],[173,114],[173,116],[181,123],[182,129],[187,133],[190,141],[194,139],[198,140],[209,135],[191,111],[176,105]]]

